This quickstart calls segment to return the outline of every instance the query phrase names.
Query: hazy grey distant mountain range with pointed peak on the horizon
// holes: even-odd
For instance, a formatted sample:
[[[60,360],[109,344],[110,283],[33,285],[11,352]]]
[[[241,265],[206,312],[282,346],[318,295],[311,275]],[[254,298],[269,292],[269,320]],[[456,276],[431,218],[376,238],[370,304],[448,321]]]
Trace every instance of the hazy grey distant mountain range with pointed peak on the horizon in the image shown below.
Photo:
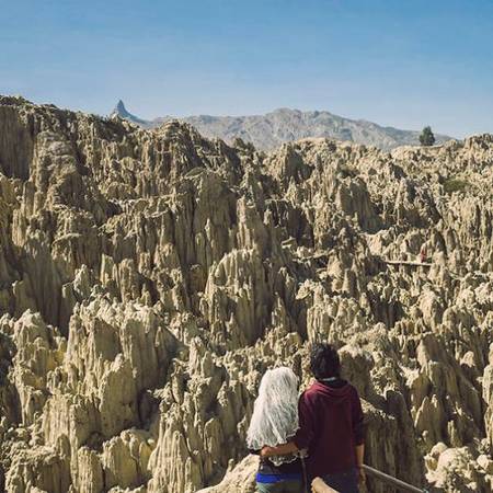
[[[399,146],[419,145],[420,131],[382,127],[365,119],[349,119],[325,111],[301,112],[279,108],[265,115],[249,116],[162,116],[151,121],[139,118],[127,111],[122,100],[111,116],[119,116],[145,128],[154,128],[171,119],[193,125],[205,137],[219,137],[231,142],[237,137],[256,148],[271,150],[283,142],[307,137],[331,137],[390,150]],[[435,134],[437,144],[451,137]]]

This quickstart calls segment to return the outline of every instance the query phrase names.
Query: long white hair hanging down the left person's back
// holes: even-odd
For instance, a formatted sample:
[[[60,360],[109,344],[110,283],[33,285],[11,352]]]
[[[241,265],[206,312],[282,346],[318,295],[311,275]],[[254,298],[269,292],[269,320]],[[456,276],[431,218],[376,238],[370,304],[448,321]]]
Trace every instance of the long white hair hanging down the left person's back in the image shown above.
[[[298,427],[298,377],[285,366],[267,370],[262,377],[253,406],[246,434],[248,447],[260,450],[265,445],[275,447],[286,444]],[[276,466],[295,459],[295,455],[270,457]]]

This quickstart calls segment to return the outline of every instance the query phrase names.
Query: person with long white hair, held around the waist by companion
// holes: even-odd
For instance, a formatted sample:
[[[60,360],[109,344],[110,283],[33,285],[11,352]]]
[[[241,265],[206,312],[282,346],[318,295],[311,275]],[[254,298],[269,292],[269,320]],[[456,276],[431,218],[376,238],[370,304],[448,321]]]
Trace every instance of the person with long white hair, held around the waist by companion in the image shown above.
[[[259,454],[263,447],[287,444],[298,427],[298,377],[287,367],[267,370],[246,434],[250,451]],[[260,493],[302,492],[300,452],[261,457],[256,488]]]

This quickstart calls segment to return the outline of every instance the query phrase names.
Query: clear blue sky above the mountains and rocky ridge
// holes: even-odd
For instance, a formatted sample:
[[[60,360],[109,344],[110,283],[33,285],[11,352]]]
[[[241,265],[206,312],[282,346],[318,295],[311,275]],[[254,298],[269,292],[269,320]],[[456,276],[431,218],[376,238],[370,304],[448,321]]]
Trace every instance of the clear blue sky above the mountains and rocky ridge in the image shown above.
[[[0,93],[493,133],[493,0],[0,0]]]

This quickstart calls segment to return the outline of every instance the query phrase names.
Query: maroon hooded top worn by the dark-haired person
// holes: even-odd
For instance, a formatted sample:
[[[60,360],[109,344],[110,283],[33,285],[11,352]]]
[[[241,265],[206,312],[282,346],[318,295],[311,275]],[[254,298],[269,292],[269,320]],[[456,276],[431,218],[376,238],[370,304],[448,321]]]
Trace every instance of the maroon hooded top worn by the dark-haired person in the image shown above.
[[[310,478],[347,471],[356,466],[356,445],[364,443],[358,392],[348,382],[316,381],[299,398],[299,429],[294,438],[308,448]]]

